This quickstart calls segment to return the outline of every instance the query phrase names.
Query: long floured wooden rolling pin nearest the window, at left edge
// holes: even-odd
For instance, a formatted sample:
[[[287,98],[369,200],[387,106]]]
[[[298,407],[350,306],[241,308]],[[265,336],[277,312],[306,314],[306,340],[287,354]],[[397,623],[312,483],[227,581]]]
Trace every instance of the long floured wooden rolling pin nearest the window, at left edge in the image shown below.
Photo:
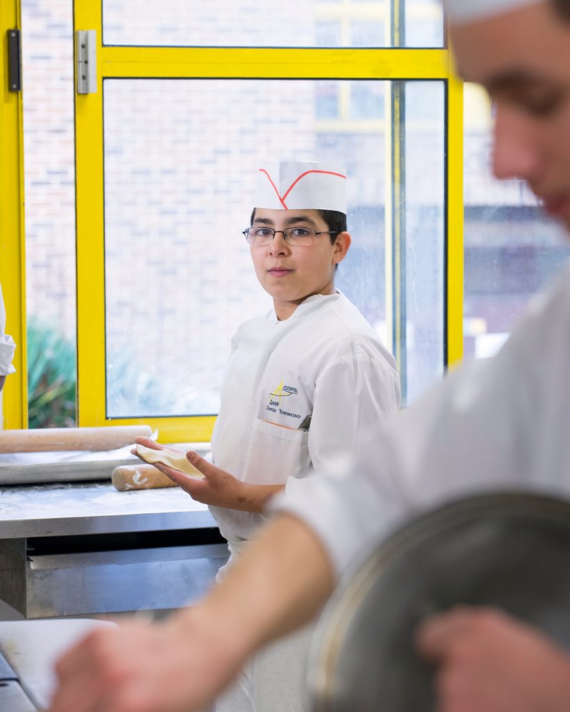
[[[149,437],[148,425],[112,425],[100,428],[45,428],[0,431],[1,452],[47,452],[56,450],[115,450]]]

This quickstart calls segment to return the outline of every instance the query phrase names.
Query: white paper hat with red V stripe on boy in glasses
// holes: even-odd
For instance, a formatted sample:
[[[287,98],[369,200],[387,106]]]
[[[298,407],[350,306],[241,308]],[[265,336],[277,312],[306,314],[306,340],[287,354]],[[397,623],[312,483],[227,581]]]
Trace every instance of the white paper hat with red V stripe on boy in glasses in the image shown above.
[[[254,206],[273,210],[347,212],[347,172],[312,161],[263,164],[258,170]]]

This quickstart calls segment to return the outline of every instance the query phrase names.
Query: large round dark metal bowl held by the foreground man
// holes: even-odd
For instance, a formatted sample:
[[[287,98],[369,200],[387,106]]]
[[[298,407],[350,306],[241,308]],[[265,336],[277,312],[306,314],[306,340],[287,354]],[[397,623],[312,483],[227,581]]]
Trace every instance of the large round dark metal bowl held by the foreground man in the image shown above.
[[[570,647],[570,503],[496,493],[421,516],[376,547],[327,604],[310,664],[314,712],[424,712],[433,669],[418,622],[500,607]]]

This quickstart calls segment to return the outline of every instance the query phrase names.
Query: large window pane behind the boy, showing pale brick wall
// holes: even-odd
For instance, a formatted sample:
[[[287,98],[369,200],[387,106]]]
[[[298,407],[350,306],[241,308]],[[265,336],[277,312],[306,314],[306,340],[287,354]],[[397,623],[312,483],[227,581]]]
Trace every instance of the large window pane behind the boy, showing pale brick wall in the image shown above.
[[[353,244],[337,286],[386,337],[384,122],[321,119],[324,92],[351,95],[336,84],[105,80],[108,417],[217,412],[231,335],[270,308],[241,235],[267,157],[347,167]]]

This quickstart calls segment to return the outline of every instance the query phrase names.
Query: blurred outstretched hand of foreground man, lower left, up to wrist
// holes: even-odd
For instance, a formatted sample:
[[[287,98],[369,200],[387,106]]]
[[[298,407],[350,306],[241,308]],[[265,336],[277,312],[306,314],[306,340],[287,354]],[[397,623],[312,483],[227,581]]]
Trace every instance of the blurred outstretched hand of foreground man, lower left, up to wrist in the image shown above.
[[[58,661],[49,712],[199,712],[236,669],[231,638],[184,616],[90,633]]]

